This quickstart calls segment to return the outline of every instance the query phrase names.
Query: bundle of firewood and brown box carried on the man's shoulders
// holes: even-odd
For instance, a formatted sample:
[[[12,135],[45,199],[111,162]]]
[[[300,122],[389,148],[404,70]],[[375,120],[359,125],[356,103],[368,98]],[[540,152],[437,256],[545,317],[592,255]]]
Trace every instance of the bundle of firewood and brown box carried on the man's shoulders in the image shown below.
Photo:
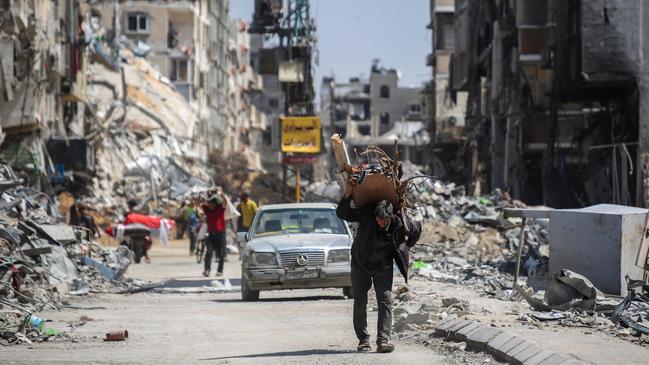
[[[338,183],[341,191],[347,186],[347,181],[353,184],[354,205],[362,207],[367,204],[387,200],[396,210],[406,213],[416,206],[415,199],[410,193],[417,179],[428,179],[431,176],[413,176],[403,178],[403,166],[399,159],[397,142],[394,143],[392,156],[377,146],[368,146],[358,153],[358,162],[352,165],[349,161],[344,140],[339,134],[331,136],[336,163],[338,164]]]

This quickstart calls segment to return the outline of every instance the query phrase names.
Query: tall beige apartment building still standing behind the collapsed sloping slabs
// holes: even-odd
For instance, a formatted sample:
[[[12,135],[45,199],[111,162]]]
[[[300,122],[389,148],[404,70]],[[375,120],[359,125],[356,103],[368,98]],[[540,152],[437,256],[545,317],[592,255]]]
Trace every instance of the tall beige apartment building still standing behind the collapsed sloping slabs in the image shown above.
[[[217,141],[226,137],[228,118],[228,0],[95,3],[102,27],[154,65],[196,111],[200,128],[194,138],[205,146],[203,155],[222,148]]]

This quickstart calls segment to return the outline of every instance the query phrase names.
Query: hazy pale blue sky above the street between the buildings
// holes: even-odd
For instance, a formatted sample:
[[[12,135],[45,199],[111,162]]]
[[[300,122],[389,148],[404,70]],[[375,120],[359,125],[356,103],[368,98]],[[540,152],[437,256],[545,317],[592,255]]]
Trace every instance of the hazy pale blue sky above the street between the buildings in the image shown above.
[[[311,0],[318,30],[323,75],[338,80],[369,76],[373,58],[401,73],[402,86],[420,86],[430,79],[426,54],[431,52],[428,0]],[[230,15],[250,21],[254,0],[230,0]]]

